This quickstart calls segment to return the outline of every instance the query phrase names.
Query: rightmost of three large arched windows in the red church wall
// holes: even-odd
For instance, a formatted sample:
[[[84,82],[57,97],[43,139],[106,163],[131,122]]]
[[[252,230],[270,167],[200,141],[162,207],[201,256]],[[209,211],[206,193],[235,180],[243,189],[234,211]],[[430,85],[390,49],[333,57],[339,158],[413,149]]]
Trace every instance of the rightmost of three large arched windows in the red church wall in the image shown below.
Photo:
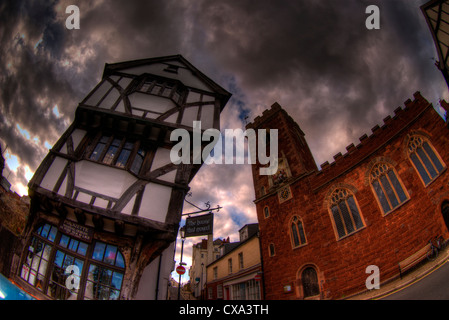
[[[424,185],[428,185],[443,171],[444,165],[430,142],[422,136],[412,136],[408,143],[410,160]]]

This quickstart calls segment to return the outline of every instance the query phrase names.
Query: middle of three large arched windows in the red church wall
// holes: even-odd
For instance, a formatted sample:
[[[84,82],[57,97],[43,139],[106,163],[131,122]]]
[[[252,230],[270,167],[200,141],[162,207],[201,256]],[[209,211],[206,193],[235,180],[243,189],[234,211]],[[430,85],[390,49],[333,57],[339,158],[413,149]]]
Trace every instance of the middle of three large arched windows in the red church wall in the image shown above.
[[[377,163],[370,174],[370,182],[384,214],[408,199],[393,167],[387,163]]]

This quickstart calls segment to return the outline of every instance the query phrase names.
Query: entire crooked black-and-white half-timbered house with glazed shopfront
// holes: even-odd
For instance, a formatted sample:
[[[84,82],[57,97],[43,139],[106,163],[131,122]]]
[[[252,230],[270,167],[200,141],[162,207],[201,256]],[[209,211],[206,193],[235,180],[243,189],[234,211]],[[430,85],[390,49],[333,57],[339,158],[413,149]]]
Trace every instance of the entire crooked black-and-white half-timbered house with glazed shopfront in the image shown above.
[[[219,129],[229,98],[180,55],[106,64],[29,183],[17,283],[43,299],[165,298],[201,167],[172,163],[170,136]]]

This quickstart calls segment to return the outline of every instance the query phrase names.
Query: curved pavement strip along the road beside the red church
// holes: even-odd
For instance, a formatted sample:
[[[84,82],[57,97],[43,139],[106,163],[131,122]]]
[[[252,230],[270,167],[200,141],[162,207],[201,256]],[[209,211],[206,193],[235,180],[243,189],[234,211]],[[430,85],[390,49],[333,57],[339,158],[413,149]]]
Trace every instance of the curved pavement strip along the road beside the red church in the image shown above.
[[[366,290],[350,297],[346,300],[379,300],[392,293],[405,289],[409,285],[423,279],[443,264],[449,261],[449,249],[446,246],[444,249],[440,250],[438,257],[433,261],[428,261],[421,263],[414,269],[406,272],[406,274],[401,278],[397,278],[391,281],[386,281],[384,284],[380,284],[379,289]],[[382,277],[382,273],[380,275]]]

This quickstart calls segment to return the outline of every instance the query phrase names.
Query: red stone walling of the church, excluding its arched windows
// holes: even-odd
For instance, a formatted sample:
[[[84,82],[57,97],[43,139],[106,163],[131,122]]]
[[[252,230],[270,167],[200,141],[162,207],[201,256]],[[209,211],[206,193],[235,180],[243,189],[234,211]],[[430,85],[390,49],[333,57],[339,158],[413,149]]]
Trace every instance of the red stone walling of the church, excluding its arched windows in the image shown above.
[[[302,298],[298,279],[301,270],[309,265],[318,273],[321,298],[338,299],[363,291],[368,265],[380,268],[382,282],[398,276],[398,262],[426,245],[430,238],[449,238],[441,215],[441,204],[449,199],[447,170],[425,186],[407,154],[408,134],[420,133],[428,137],[444,164],[449,165],[448,128],[419,93],[414,95],[414,101],[406,101],[405,108],[387,117],[383,126],[374,127],[369,136],[362,136],[359,144],[348,146],[345,154],[337,154],[335,162],[323,164],[320,171],[307,171],[310,166],[304,161],[310,158],[305,154],[310,151],[303,148],[301,153],[292,147],[292,126],[285,122],[284,115],[281,117],[283,123],[275,118],[270,121],[279,125],[279,150],[284,151],[292,172],[287,181],[292,199],[279,203],[276,189],[267,188],[266,195],[258,194],[268,178],[259,178],[253,170],[267,299]],[[256,120],[263,123],[264,119],[262,116]],[[269,121],[263,124],[270,125]],[[370,169],[379,159],[393,164],[410,197],[387,215],[381,211],[369,183]],[[362,229],[342,239],[336,236],[327,202],[336,186],[353,191],[364,221]],[[270,209],[269,218],[264,216],[265,206]],[[307,238],[305,245],[295,249],[289,233],[293,215],[301,217]],[[269,254],[270,243],[275,246],[274,256]],[[295,290],[284,293],[285,285]]]

